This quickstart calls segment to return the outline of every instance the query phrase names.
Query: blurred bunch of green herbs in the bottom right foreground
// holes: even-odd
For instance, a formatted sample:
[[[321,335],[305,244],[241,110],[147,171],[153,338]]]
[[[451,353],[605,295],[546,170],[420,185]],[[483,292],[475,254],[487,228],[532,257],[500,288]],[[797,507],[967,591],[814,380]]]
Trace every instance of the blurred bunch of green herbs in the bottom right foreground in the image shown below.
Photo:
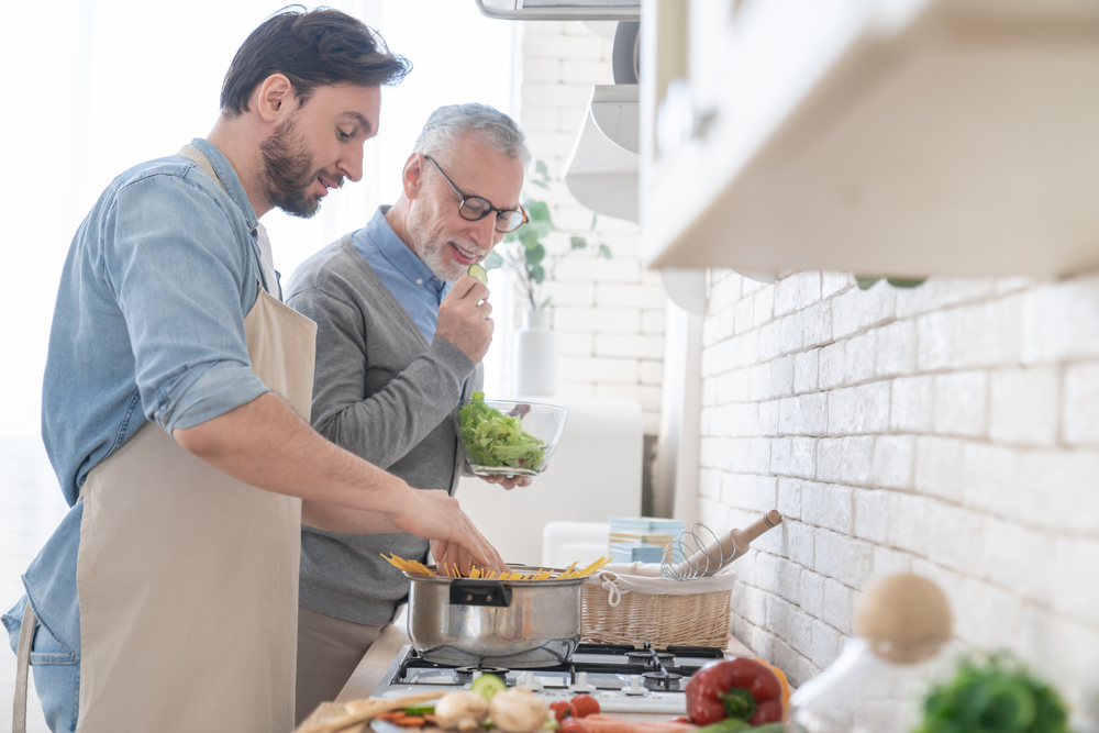
[[[931,688],[914,733],[1068,733],[1056,690],[1007,652],[963,657],[948,682]]]

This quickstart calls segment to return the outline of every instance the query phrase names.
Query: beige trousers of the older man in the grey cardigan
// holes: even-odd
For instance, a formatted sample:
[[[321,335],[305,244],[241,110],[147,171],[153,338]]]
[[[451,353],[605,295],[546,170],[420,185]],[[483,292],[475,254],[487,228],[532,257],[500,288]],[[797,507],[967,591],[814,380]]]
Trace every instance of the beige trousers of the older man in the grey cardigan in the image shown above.
[[[320,703],[336,699],[382,629],[298,607],[295,725],[300,725]]]

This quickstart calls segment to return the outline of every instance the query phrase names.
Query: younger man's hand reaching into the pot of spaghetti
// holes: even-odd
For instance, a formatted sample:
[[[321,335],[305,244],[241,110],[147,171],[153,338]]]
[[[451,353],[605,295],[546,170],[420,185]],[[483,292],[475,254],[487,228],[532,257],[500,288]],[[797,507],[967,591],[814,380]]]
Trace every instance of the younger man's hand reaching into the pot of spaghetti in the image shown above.
[[[413,490],[410,495],[414,501],[388,518],[404,532],[431,540],[436,562],[458,563],[463,575],[469,575],[470,565],[497,573],[507,569],[500,553],[477,531],[457,499],[439,490]]]

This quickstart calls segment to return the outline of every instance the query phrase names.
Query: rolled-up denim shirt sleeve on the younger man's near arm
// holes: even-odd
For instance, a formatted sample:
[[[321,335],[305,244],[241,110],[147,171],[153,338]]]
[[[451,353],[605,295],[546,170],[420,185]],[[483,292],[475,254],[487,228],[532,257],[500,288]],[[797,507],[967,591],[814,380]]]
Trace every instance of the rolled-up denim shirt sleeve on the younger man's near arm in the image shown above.
[[[149,176],[119,190],[102,275],[130,334],[145,417],[190,427],[267,391],[253,375],[241,292],[252,271],[203,176]]]

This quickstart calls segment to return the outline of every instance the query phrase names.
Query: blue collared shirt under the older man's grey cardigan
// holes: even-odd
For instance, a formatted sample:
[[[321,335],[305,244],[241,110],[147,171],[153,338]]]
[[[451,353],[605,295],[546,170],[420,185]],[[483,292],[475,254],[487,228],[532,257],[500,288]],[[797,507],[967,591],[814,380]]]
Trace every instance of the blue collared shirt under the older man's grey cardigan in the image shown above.
[[[397,236],[386,221],[387,211],[389,207],[379,207],[366,226],[351,235],[351,243],[370,264],[397,302],[409,312],[430,345],[439,325],[439,303],[453,286],[435,277],[431,268]]]

